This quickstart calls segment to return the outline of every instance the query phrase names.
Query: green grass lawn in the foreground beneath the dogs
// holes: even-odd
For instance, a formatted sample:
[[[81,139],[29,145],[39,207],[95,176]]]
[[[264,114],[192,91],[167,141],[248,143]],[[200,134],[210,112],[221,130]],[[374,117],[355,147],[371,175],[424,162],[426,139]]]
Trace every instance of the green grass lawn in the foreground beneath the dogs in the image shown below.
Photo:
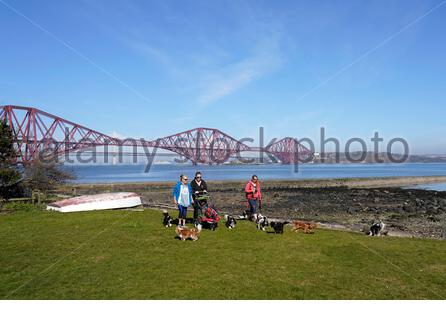
[[[175,239],[159,211],[0,215],[2,299],[444,299],[446,242],[240,222]]]

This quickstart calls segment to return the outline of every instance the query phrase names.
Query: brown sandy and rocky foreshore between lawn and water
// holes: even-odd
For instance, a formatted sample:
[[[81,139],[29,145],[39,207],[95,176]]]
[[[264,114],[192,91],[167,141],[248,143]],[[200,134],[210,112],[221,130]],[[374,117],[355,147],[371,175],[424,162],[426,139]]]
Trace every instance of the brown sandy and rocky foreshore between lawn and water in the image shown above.
[[[66,186],[63,191],[68,194],[73,187],[78,195],[130,191],[140,194],[148,206],[172,205],[175,182],[83,184]],[[407,188],[444,182],[446,176],[265,180],[261,181],[262,213],[275,219],[316,221],[325,227],[358,232],[382,220],[390,235],[446,239],[446,192]],[[245,210],[246,181],[207,183],[220,211],[238,215]]]

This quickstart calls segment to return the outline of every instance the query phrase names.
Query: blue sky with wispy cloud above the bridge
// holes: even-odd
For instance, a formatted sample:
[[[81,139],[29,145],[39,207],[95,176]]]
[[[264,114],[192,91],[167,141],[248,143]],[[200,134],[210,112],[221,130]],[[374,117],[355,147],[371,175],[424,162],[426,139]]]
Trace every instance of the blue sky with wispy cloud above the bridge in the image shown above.
[[[324,126],[446,153],[441,0],[0,0],[0,24],[0,104],[125,137]]]

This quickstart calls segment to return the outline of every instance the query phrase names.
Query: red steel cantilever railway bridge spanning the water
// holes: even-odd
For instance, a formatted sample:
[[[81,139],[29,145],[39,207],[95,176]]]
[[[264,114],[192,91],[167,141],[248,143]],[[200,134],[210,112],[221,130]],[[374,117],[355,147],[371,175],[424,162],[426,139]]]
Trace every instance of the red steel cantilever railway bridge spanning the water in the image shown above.
[[[312,157],[295,138],[284,138],[265,147],[250,147],[218,129],[196,128],[156,140],[117,139],[32,107],[1,106],[0,119],[14,136],[18,163],[27,164],[50,150],[56,156],[96,147],[157,148],[179,154],[193,164],[220,164],[242,152],[264,152],[281,163]]]

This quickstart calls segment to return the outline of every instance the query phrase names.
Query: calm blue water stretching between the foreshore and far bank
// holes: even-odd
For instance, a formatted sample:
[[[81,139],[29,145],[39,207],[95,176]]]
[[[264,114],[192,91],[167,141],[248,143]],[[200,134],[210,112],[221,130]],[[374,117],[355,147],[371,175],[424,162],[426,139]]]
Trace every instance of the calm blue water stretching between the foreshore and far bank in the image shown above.
[[[446,176],[446,163],[408,164],[304,164],[295,172],[293,165],[153,165],[144,172],[145,165],[67,165],[74,172],[77,183],[118,183],[144,181],[177,181],[180,174],[193,176],[202,171],[207,180],[247,180],[257,174],[262,180],[366,178],[402,176]],[[426,186],[427,187],[427,186]],[[446,190],[446,184],[443,185]]]

